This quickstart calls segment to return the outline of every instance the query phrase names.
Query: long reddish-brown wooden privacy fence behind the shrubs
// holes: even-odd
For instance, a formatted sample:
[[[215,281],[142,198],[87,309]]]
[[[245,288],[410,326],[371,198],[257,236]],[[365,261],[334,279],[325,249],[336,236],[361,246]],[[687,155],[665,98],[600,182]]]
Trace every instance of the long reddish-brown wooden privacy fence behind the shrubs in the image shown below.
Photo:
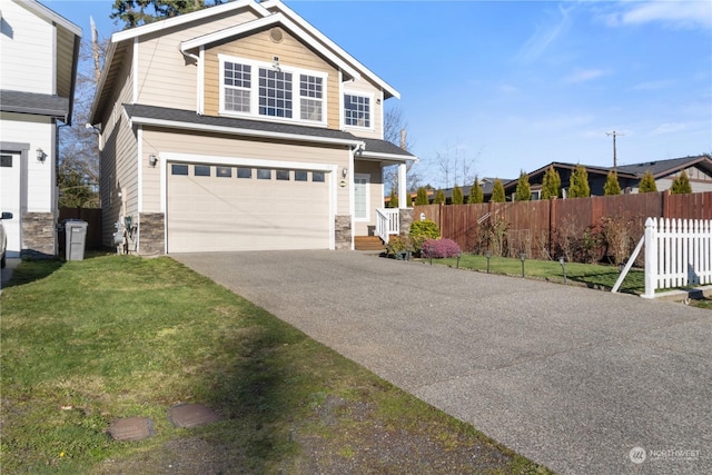
[[[645,219],[651,216],[712,219],[712,191],[689,195],[660,191],[546,201],[426,205],[415,206],[414,209],[414,216],[424,214],[427,219],[435,221],[442,237],[453,239],[464,251],[493,250],[505,256],[525,251],[533,258],[547,259],[565,250],[566,239],[582,238],[587,230],[596,227],[600,230],[604,218],[621,221],[632,245],[643,236]],[[488,239],[484,239],[485,234]]]

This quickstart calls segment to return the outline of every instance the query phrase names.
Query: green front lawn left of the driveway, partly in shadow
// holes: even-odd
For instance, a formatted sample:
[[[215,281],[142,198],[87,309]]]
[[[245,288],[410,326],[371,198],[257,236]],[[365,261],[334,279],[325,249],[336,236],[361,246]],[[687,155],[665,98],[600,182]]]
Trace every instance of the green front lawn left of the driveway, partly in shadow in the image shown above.
[[[0,305],[3,474],[548,473],[166,257],[23,261]]]

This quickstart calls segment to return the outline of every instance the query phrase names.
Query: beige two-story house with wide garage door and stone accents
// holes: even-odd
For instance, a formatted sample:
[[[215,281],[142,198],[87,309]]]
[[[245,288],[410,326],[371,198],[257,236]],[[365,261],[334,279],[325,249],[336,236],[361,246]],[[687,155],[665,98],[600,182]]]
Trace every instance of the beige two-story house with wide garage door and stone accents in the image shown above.
[[[352,249],[373,234],[398,92],[284,3],[115,33],[92,105],[105,245],[138,255]],[[397,216],[396,216],[397,219]]]

